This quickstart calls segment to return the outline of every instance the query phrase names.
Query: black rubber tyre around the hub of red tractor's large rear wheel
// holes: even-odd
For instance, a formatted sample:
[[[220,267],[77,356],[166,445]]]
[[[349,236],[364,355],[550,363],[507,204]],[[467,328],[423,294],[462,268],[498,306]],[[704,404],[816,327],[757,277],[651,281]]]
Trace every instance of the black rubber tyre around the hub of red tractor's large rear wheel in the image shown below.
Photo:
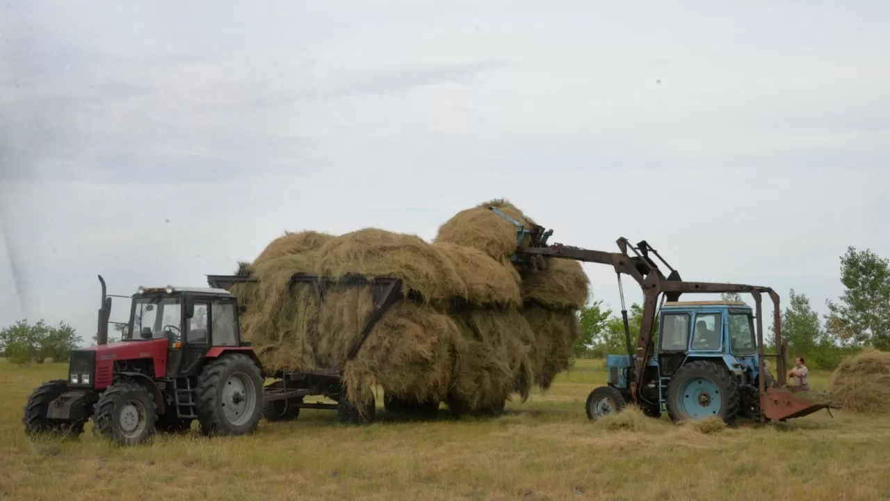
[[[216,387],[220,384],[220,378],[222,377],[223,372],[232,365],[237,364],[249,365],[250,371],[255,374],[255,378],[260,382],[257,387],[258,394],[256,395],[257,407],[260,408],[260,414],[255,421],[258,423],[259,418],[262,418],[263,416],[263,376],[254,360],[240,354],[217,358],[212,362],[208,362],[207,365],[205,365],[204,370],[201,371],[201,374],[198,376],[198,388],[196,390],[196,394],[198,395],[198,423],[200,425],[201,433],[206,436],[240,434],[231,430],[226,423],[223,423],[219,419],[219,415],[216,413],[216,409],[220,404],[216,398]],[[251,431],[248,432],[253,432],[255,430],[256,425],[254,425]]]

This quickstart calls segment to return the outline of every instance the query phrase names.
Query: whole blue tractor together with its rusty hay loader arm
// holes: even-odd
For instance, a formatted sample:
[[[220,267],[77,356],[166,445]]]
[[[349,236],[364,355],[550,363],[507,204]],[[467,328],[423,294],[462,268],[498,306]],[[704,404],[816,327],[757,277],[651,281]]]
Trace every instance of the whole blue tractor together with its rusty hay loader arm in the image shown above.
[[[627,356],[607,359],[608,385],[593,390],[587,398],[590,419],[599,419],[627,405],[640,407],[653,417],[667,410],[674,420],[717,415],[726,423],[732,423],[737,415],[763,423],[837,408],[834,404],[813,403],[783,388],[787,352],[781,339],[779,295],[773,289],[739,283],[684,282],[645,241],[633,246],[627,239],[619,238],[620,252],[606,252],[560,243],[547,245],[546,238],[552,230],[545,231],[541,226],[520,226],[517,234],[520,239],[523,234],[531,236],[529,246],[517,249],[518,262],[531,262],[530,258],[536,256],[575,259],[611,265],[618,275]],[[661,272],[651,256],[670,270],[669,275]],[[643,289],[643,319],[635,346],[627,322],[621,275],[630,275]],[[751,294],[754,311],[738,302],[680,302],[685,293],[723,292]],[[763,294],[773,300],[778,349],[774,354],[764,352]],[[658,337],[653,336],[656,319]],[[656,339],[660,340],[657,349]],[[773,381],[766,370],[766,357],[775,357],[778,381]]]

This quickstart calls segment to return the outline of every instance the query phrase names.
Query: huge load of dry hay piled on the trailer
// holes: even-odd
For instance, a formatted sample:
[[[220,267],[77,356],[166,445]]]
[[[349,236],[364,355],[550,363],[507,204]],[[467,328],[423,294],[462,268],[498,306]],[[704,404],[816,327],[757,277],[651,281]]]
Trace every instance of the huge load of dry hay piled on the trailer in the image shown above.
[[[245,338],[271,370],[336,367],[373,308],[370,288],[334,288],[319,305],[311,284],[288,287],[291,275],[395,276],[408,299],[387,310],[344,365],[353,404],[361,408],[380,385],[402,401],[479,414],[511,394],[527,398],[536,384],[548,388],[569,366],[587,275],[563,259],[514,266],[516,226],[490,206],[532,224],[508,202],[491,201],[449,219],[432,243],[375,228],[279,237],[239,266],[259,279],[232,291],[247,306]]]

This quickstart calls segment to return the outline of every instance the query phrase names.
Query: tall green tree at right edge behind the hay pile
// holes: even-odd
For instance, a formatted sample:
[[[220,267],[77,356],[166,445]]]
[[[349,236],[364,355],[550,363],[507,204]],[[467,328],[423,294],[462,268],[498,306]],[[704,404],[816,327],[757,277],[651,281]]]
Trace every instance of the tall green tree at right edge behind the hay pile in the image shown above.
[[[829,332],[845,344],[890,349],[890,263],[852,246],[840,261],[844,292],[839,302],[827,301]]]

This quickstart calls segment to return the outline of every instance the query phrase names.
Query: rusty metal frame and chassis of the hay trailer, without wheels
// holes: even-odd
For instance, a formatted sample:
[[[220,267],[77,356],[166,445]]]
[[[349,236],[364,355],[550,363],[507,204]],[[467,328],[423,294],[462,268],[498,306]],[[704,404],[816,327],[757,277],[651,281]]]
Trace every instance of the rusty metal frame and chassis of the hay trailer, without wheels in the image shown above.
[[[207,275],[207,283],[211,287],[231,290],[236,283],[258,283],[249,275]],[[263,389],[263,404],[284,400],[288,407],[341,410],[343,387],[343,369],[349,361],[358,356],[361,347],[387,309],[396,301],[401,300],[402,281],[393,277],[365,278],[358,275],[346,275],[342,278],[331,278],[317,275],[295,274],[291,276],[288,286],[296,283],[311,283],[317,304],[322,304],[332,286],[345,285],[350,287],[370,286],[374,306],[362,329],[347,351],[347,356],[337,365],[328,369],[300,369],[293,372],[275,371],[267,373],[268,377],[279,379]],[[259,354],[258,354],[259,355]],[[323,396],[338,402],[337,404],[306,403],[304,397]],[[344,398],[343,398],[344,399]]]

